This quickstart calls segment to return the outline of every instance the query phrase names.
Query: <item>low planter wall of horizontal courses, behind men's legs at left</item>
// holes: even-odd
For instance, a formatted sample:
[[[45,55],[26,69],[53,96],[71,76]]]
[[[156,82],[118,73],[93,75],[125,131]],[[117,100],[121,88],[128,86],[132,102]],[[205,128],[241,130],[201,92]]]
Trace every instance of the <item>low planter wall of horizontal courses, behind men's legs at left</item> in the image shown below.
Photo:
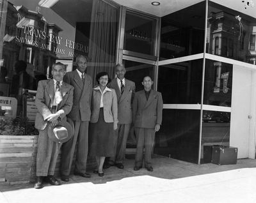
[[[0,186],[34,183],[38,135],[0,135]],[[55,176],[60,176],[61,151]],[[72,168],[74,168],[76,152]],[[88,157],[87,169],[95,167],[93,157]],[[73,170],[72,170],[73,171]]]

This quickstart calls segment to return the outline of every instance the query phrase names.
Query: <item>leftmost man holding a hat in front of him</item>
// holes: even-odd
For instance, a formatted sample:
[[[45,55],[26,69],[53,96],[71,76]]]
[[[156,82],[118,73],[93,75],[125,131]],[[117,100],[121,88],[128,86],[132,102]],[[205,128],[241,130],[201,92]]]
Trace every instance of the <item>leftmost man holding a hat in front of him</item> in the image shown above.
[[[64,64],[55,63],[52,66],[53,79],[38,82],[35,101],[38,109],[35,128],[39,131],[34,185],[36,189],[42,188],[43,181],[60,185],[60,181],[54,177],[58,153],[62,142],[73,135],[66,115],[72,109],[74,87],[63,82],[65,73]]]

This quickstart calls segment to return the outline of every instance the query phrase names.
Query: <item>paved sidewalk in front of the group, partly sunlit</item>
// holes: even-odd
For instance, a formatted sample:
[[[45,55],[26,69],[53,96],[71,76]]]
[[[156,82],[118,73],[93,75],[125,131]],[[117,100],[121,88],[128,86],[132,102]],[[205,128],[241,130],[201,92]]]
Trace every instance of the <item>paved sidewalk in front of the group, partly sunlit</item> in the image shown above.
[[[237,160],[236,165],[196,165],[154,158],[153,172],[134,171],[134,160],[124,170],[110,167],[104,177],[70,176],[61,186],[33,184],[1,188],[1,203],[40,202],[256,202],[256,160]],[[60,178],[58,178],[60,179]]]

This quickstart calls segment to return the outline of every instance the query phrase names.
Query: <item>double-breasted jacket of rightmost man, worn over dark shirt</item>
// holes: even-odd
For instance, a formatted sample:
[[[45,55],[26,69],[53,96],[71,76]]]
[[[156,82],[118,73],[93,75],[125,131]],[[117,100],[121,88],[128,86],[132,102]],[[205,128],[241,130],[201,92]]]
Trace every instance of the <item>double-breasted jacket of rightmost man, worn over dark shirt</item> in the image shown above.
[[[162,124],[163,98],[162,94],[151,89],[148,100],[144,89],[134,94],[132,115],[134,127],[155,128]]]

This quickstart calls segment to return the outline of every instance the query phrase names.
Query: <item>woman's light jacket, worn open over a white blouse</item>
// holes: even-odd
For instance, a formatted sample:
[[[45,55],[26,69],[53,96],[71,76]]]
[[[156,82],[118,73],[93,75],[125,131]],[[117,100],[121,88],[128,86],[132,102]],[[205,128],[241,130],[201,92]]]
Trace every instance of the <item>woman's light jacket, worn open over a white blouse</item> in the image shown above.
[[[92,116],[90,123],[97,123],[100,114],[100,98],[101,93],[99,89],[93,89],[92,95]],[[117,100],[115,89],[107,90],[103,94],[103,109],[104,121],[106,123],[118,123],[117,119]]]

